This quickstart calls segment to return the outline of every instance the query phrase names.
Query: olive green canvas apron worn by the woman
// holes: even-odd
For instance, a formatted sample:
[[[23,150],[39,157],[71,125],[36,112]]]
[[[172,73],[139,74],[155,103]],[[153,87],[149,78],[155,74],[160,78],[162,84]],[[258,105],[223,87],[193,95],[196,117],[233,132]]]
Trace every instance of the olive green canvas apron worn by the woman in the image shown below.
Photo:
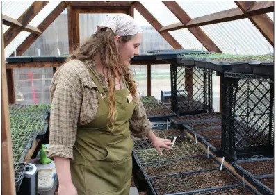
[[[97,86],[99,107],[92,122],[78,126],[74,160],[70,161],[72,182],[78,195],[129,195],[133,149],[129,120],[133,101],[127,101],[127,88],[115,90],[117,118],[113,127],[108,125],[108,128],[108,96],[95,74],[86,67]]]

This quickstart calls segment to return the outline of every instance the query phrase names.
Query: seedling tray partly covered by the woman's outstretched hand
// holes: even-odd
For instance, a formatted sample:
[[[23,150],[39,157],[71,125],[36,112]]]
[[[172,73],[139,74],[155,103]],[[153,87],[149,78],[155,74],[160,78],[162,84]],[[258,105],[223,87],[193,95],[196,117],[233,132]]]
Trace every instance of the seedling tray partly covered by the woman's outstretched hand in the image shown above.
[[[177,137],[174,142],[174,146],[185,146],[186,144],[190,144],[190,139],[187,139],[187,137],[182,135],[177,136],[165,136],[165,137],[159,137],[163,139],[170,139],[173,141],[174,137]],[[145,150],[145,149],[153,149],[154,146],[152,146],[152,143],[149,139],[138,139],[134,141],[134,150]]]

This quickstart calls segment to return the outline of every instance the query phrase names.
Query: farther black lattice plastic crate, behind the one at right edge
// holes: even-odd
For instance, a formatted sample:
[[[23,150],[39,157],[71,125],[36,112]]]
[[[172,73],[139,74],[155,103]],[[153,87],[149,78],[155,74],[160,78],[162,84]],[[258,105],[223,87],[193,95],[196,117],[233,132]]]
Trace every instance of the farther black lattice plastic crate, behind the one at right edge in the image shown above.
[[[212,74],[209,69],[170,65],[172,110],[178,115],[212,112]]]

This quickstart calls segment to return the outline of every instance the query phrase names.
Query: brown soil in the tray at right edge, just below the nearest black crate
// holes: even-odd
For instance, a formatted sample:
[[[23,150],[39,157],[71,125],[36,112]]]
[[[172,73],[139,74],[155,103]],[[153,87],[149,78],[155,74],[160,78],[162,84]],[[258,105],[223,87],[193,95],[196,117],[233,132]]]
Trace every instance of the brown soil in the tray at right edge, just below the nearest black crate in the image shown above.
[[[237,164],[254,176],[274,174],[274,160],[256,160]]]

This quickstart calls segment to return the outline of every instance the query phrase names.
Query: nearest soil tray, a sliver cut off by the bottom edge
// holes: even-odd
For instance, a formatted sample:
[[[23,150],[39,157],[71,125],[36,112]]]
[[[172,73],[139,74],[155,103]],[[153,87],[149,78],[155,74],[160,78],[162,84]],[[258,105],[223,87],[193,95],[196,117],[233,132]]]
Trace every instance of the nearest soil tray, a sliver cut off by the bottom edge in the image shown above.
[[[208,190],[205,192],[195,192],[195,193],[189,193],[186,195],[260,195],[257,193],[252,187],[249,187],[248,185],[238,186],[238,187],[230,187],[230,188],[224,188],[224,189],[215,189],[215,190]]]

